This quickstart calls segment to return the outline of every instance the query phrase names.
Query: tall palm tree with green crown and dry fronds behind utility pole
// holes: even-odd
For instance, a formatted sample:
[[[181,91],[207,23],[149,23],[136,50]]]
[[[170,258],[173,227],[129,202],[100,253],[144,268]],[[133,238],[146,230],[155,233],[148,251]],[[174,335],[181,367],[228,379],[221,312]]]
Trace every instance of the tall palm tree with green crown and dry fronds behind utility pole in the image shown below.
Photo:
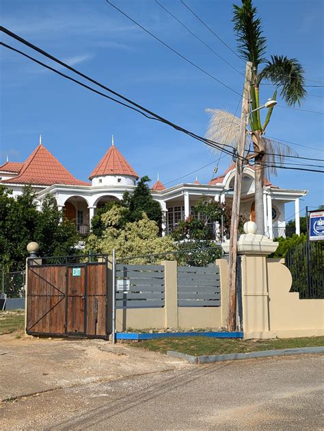
[[[303,67],[296,58],[287,58],[286,56],[271,56],[270,60],[265,58],[267,51],[267,40],[262,36],[261,20],[256,16],[256,8],[252,5],[252,0],[242,0],[241,7],[233,5],[234,31],[237,34],[237,43],[239,53],[242,58],[252,62],[252,82],[251,82],[251,108],[256,110],[260,108],[260,84],[262,80],[275,86],[275,92],[272,99],[277,97],[277,91],[280,90],[280,96],[288,106],[299,106],[301,101],[306,97],[304,71]],[[239,139],[239,119],[220,110],[206,110],[211,114],[211,121],[208,126],[206,136],[213,140],[221,140],[221,143],[228,142],[237,145]],[[249,158],[255,160],[255,210],[256,224],[258,233],[265,232],[264,208],[263,208],[263,182],[266,174],[266,165],[271,164],[274,168],[269,169],[269,173],[276,173],[275,164],[281,164],[284,156],[291,150],[282,144],[275,143],[263,136],[269,121],[273,108],[269,108],[265,122],[262,124],[260,119],[260,110],[256,110],[249,115],[250,142],[254,148],[254,153]],[[247,140],[247,143],[249,140]],[[268,153],[278,153],[279,160]]]

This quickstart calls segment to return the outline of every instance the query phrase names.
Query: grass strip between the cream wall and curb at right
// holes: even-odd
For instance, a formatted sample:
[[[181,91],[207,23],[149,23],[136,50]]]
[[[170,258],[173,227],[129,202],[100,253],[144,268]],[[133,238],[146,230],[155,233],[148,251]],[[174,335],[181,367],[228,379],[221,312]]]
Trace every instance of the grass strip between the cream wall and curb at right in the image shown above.
[[[239,338],[208,338],[188,336],[185,338],[161,338],[132,343],[134,347],[166,353],[168,350],[193,356],[248,353],[261,350],[293,349],[295,347],[324,346],[324,336],[303,338],[280,338],[274,340],[241,340]]]

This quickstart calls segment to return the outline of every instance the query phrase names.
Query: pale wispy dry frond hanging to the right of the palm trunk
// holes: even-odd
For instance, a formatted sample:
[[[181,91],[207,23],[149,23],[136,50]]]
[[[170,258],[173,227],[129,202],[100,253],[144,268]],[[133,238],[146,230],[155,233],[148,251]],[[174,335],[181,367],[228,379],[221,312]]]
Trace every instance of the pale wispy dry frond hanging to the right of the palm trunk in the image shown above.
[[[265,177],[269,179],[270,175],[278,175],[277,167],[283,166],[285,156],[298,156],[297,152],[284,143],[279,143],[276,140],[262,137],[265,145],[265,156],[262,162],[267,165],[265,168]],[[278,156],[274,156],[274,154]]]

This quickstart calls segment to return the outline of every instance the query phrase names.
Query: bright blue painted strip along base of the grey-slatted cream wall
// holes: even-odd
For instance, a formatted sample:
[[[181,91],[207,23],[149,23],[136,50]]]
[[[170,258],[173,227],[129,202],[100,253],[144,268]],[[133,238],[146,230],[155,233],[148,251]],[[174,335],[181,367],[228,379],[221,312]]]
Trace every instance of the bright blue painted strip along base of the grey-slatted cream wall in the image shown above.
[[[208,336],[213,338],[243,338],[243,332],[116,332],[116,340],[154,340],[156,338],[177,338],[183,336]]]

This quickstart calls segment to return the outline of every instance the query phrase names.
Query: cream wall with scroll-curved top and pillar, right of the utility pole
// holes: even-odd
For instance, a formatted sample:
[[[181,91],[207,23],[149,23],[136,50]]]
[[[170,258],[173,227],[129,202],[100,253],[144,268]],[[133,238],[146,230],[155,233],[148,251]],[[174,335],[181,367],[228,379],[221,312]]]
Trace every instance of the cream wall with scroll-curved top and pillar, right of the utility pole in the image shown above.
[[[290,292],[284,260],[242,256],[244,338],[324,335],[324,299],[299,299]]]

